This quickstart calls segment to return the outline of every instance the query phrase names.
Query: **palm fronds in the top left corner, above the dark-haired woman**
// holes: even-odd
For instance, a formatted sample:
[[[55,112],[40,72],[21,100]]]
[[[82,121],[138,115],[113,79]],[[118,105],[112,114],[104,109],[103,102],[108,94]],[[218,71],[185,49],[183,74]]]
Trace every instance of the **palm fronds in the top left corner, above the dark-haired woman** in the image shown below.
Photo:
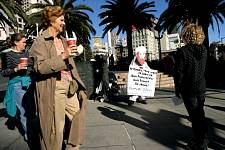
[[[5,29],[5,25],[9,25],[13,30],[18,26],[16,16],[18,15],[25,22],[27,22],[27,16],[22,9],[21,0],[1,0],[0,1],[0,26]]]

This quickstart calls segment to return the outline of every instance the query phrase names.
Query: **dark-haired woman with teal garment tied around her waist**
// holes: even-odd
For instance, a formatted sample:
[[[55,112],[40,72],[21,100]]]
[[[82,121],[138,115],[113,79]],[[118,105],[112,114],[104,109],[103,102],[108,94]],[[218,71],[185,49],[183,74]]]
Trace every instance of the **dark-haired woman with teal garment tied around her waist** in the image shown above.
[[[21,33],[15,33],[9,40],[10,48],[5,53],[5,66],[1,70],[1,75],[9,77],[6,95],[3,104],[6,108],[9,119],[6,122],[8,128],[14,129],[16,125],[17,109],[19,110],[19,118],[23,128],[23,135],[27,140],[27,111],[30,99],[27,99],[27,92],[32,72],[32,61],[29,59],[28,51],[25,51],[26,38]],[[28,61],[21,62],[22,60]]]

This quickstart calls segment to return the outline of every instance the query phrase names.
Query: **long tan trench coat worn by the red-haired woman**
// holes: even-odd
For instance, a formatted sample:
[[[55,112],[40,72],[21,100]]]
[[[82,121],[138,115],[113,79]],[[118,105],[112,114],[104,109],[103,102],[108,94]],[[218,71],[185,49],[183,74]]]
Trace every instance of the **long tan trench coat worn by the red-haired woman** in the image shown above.
[[[67,46],[63,37],[64,48]],[[32,45],[30,55],[34,59],[34,69],[38,77],[36,81],[35,100],[36,109],[40,120],[40,139],[41,149],[54,150],[55,131],[54,131],[54,93],[56,86],[56,75],[62,69],[66,69],[66,63],[61,56],[58,56],[54,46],[53,37],[48,31],[42,32]],[[68,59],[69,66],[72,68],[73,79],[79,84],[78,99],[81,109],[72,119],[68,143],[73,145],[83,144],[84,142],[84,120],[87,104],[87,94],[84,83],[81,81],[74,60]]]

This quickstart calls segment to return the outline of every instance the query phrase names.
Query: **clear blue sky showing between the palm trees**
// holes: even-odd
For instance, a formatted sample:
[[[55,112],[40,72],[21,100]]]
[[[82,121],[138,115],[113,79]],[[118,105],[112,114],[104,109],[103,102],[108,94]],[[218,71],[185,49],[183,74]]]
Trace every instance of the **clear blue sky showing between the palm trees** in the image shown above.
[[[149,1],[149,0],[140,0],[140,2],[145,2],[145,1]],[[104,26],[99,26],[100,23],[100,18],[98,17],[98,14],[102,11],[100,9],[100,6],[105,4],[105,0],[77,0],[76,4],[86,4],[88,6],[90,6],[93,10],[94,13],[88,13],[91,20],[93,21],[93,26],[96,30],[96,36],[102,36],[103,33],[103,28]],[[167,3],[165,2],[165,0],[155,0],[155,10],[157,10],[156,12],[154,12],[153,14],[156,17],[159,17],[160,14],[167,8]],[[212,31],[212,28],[209,28],[209,41],[210,43],[212,41],[219,41],[221,40],[221,38],[225,37],[225,24],[220,25],[220,35],[217,31],[217,27],[216,24],[214,24],[214,31]],[[105,37],[106,39],[106,37]],[[105,41],[105,40],[104,40]],[[223,41],[225,42],[225,38],[223,39]]]

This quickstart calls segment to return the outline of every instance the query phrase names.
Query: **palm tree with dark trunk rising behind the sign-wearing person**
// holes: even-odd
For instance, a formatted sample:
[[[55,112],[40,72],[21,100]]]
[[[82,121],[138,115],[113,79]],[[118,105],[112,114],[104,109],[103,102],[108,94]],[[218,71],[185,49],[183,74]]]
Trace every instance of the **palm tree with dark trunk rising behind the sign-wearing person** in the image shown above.
[[[138,31],[152,28],[155,17],[151,13],[155,10],[150,8],[155,7],[154,1],[139,4],[139,0],[107,0],[106,3],[101,6],[103,11],[99,14],[102,19],[99,25],[105,25],[103,37],[115,28],[118,28],[117,34],[126,32],[128,59],[131,61],[133,59],[132,27],[134,26]]]

